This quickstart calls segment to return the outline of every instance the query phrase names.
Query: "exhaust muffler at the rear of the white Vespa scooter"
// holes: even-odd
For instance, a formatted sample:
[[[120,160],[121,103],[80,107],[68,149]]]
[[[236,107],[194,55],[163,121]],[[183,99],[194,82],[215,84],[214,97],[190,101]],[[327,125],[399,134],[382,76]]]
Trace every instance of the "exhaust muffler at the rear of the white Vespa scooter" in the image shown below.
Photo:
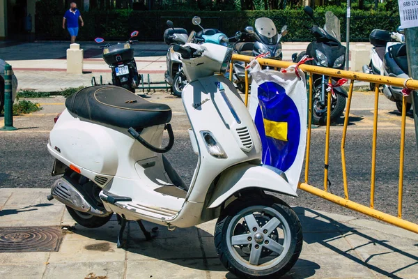
[[[78,189],[77,189],[78,188]],[[88,202],[88,196],[83,195],[82,186],[74,185],[64,177],[57,179],[51,189],[51,195],[48,195],[47,199],[54,197],[59,202],[62,202],[66,206],[70,206],[72,209],[81,211],[84,213],[90,213],[94,216],[107,216],[110,212],[98,209],[97,206],[93,206]]]

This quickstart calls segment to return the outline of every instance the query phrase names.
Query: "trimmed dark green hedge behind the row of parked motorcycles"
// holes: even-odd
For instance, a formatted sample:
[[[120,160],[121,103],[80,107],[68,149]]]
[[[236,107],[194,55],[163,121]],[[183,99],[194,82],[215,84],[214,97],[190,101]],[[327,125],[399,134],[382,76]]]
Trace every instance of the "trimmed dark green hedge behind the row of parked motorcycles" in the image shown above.
[[[44,7],[38,4],[44,1],[53,2],[54,0],[40,0],[37,2],[37,8]],[[396,3],[396,1],[394,2]],[[83,13],[85,24],[79,30],[78,39],[93,40],[100,36],[105,40],[126,40],[131,31],[138,30],[139,40],[162,41],[162,34],[167,29],[165,24],[167,20],[172,20],[176,27],[183,27],[187,31],[200,31],[199,27],[192,24],[194,15],[199,15],[202,18],[203,27],[217,28],[226,33],[227,36],[233,36],[236,31],[254,25],[257,17],[270,17],[276,24],[277,29],[281,29],[284,24],[287,24],[288,35],[284,37],[284,41],[309,41],[313,38],[306,28],[311,26],[311,20],[304,14],[302,7],[286,8],[285,10],[240,10],[242,6],[248,6],[247,0],[190,1],[187,2],[187,5],[169,0],[159,3],[161,7],[156,6],[154,8],[160,8],[160,10],[91,10]],[[255,0],[252,3],[256,8],[265,8],[262,0]],[[345,5],[345,3],[342,3],[341,6],[320,6],[315,10],[316,20],[320,24],[325,23],[325,11],[327,10],[331,10],[336,17],[339,17],[342,40],[346,38]],[[371,4],[365,5],[368,10],[352,10],[350,40],[368,41],[369,34],[373,29],[389,31],[396,29],[399,25],[397,3],[396,11],[385,10],[387,5],[380,5],[377,11],[371,9],[374,7]],[[167,8],[173,10],[167,10]],[[179,10],[181,10],[180,17]],[[42,10],[38,13],[37,10],[36,33],[38,39],[68,40],[67,31],[63,31],[61,27],[61,14],[63,12],[52,14],[49,11]]]

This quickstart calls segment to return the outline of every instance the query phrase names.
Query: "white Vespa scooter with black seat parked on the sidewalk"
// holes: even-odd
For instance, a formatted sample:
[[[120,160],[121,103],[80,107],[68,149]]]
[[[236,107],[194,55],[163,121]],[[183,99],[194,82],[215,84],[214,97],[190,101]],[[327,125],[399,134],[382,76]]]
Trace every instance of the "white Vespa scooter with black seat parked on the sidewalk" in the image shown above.
[[[199,154],[191,184],[162,155],[174,142],[170,107],[120,87],[93,86],[66,100],[50,133],[53,174],[63,176],[49,199],[63,202],[85,227],[100,227],[116,213],[118,246],[127,220],[137,221],[149,239],[141,220],[172,230],[218,218],[215,247],[229,271],[245,278],[281,276],[300,255],[302,229],[295,212],[265,191],[296,197],[296,189],[284,172],[261,164],[254,122],[222,75],[233,50],[187,43],[174,51],[182,54],[189,80],[183,105]],[[169,143],[162,148],[164,130]]]

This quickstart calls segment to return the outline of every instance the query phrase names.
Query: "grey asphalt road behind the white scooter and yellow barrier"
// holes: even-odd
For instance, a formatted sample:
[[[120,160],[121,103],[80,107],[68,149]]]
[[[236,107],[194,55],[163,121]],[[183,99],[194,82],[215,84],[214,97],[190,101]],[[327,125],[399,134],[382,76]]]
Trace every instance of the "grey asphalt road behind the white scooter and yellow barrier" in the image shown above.
[[[197,156],[193,153],[187,134],[187,116],[181,100],[165,93],[156,93],[150,100],[167,103],[172,107],[176,142],[167,154],[171,163],[187,183],[192,179]],[[51,176],[52,156],[46,149],[48,132],[53,126],[54,114],[63,110],[63,98],[35,100],[42,103],[44,110],[29,116],[15,118],[17,132],[0,132],[0,188],[49,188],[54,181]],[[375,208],[396,215],[398,201],[398,165],[401,117],[394,103],[381,96],[378,132],[378,156],[376,167]],[[369,205],[371,146],[373,123],[373,95],[356,93],[350,112],[350,127],[346,144],[346,164],[350,199]],[[330,133],[330,182],[331,192],[343,196],[341,172],[341,122],[332,126]],[[2,118],[0,118],[0,126]],[[309,184],[323,187],[325,128],[312,130],[311,163]],[[403,218],[418,223],[416,201],[418,152],[413,129],[412,114],[407,116],[405,143],[405,172],[403,195]],[[302,170],[302,178],[304,170]],[[334,205],[319,197],[299,190],[298,198],[283,197],[292,206],[304,206],[346,215],[353,211]]]

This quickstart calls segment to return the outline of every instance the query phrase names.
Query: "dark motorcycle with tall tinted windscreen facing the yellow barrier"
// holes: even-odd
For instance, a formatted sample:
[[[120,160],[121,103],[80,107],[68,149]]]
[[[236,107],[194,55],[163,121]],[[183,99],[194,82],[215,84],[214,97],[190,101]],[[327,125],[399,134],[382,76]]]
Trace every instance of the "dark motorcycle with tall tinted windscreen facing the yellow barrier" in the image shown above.
[[[311,7],[305,6],[304,12],[314,21],[314,26],[308,29],[314,35],[315,40],[309,43],[306,52],[300,54],[294,53],[292,55],[293,62],[299,62],[303,56],[307,55],[314,58],[313,61],[308,61],[308,64],[330,67],[334,69],[343,70],[346,63],[346,47],[341,45],[336,39],[337,30],[328,28],[327,31],[318,27],[318,22],[314,18],[314,10]],[[328,24],[325,23],[327,26]],[[329,26],[329,25],[328,25]],[[313,108],[312,121],[314,124],[323,125],[327,120],[327,88],[329,77],[325,75],[316,75],[314,77],[314,91],[312,96]],[[336,84],[338,79],[332,78],[332,84]],[[348,98],[347,91],[342,86],[334,87],[331,101],[331,121],[339,119],[346,107],[346,98]]]

